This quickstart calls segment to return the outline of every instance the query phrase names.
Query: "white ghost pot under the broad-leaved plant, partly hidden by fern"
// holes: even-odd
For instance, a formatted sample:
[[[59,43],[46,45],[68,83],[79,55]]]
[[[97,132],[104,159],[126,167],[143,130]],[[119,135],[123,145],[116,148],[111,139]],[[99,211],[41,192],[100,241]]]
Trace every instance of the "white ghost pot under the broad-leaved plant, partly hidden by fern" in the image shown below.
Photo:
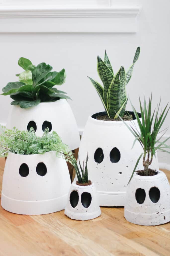
[[[32,121],[32,122],[31,122]],[[71,150],[79,147],[80,136],[77,124],[66,99],[55,102],[42,102],[37,106],[21,109],[20,106],[11,106],[6,127],[27,130],[33,126],[37,136],[42,136],[48,126],[56,131]]]

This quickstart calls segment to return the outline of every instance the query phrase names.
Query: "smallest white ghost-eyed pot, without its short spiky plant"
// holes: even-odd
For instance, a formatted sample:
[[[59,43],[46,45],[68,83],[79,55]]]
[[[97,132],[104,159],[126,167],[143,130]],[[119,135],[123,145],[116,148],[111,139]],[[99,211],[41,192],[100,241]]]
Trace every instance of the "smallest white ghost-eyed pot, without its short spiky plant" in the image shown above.
[[[71,184],[64,213],[74,220],[90,220],[101,214],[94,183],[87,186]]]

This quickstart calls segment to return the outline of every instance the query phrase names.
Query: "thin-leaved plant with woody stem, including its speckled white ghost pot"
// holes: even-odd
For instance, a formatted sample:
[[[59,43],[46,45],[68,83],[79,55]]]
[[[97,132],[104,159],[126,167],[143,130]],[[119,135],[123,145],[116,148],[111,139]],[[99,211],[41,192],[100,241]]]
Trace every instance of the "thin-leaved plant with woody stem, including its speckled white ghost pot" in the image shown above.
[[[141,105],[140,98],[139,103],[141,120],[132,105],[138,126],[134,126],[133,123],[128,126],[122,120],[132,135],[135,136],[134,144],[138,141],[143,149],[127,186],[124,214],[128,221],[138,225],[160,225],[170,221],[170,187],[166,175],[159,169],[154,170],[150,166],[156,151],[170,153],[167,151],[170,146],[166,144],[170,137],[163,142],[160,141],[163,135],[158,138],[169,108],[167,109],[166,105],[164,110],[160,111],[159,102],[152,113],[152,96],[148,106],[146,106],[146,100],[144,100],[144,105]],[[166,131],[167,129],[165,129]],[[142,156],[143,168],[136,171]]]

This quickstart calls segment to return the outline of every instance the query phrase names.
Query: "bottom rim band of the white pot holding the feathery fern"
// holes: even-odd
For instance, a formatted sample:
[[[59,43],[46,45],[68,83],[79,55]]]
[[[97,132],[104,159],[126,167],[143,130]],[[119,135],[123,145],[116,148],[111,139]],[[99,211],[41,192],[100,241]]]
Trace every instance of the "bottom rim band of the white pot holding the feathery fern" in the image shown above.
[[[65,209],[68,194],[43,201],[22,201],[9,198],[2,193],[1,205],[7,211],[23,215],[49,214]]]

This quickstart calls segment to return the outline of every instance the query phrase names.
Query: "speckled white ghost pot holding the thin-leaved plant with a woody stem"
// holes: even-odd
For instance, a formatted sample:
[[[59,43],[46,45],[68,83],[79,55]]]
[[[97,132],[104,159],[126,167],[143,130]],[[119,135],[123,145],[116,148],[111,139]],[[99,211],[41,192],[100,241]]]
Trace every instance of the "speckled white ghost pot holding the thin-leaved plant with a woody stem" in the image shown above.
[[[134,173],[127,186],[125,218],[135,224],[155,226],[170,221],[170,187],[166,175]]]

